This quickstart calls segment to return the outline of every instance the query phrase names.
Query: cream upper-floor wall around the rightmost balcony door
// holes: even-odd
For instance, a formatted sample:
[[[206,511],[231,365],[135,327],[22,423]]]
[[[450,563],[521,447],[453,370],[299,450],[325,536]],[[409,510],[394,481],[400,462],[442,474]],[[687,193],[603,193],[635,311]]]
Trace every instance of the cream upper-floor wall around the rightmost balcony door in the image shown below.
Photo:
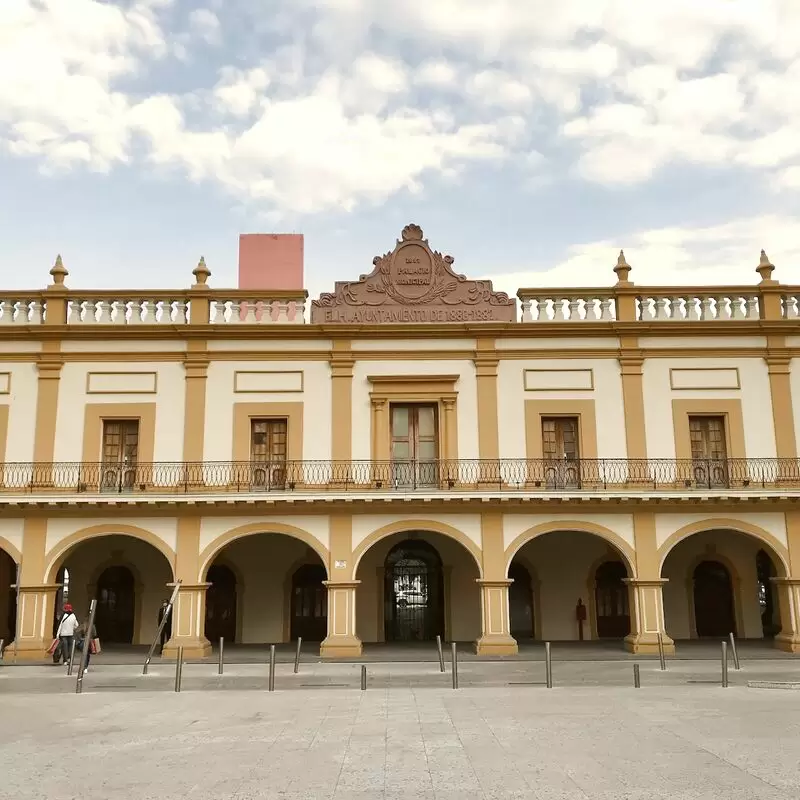
[[[673,390],[670,387],[670,369],[687,367],[736,367],[741,389]],[[642,381],[647,454],[650,458],[675,458],[673,400],[734,399],[742,402],[747,457],[776,457],[769,374],[763,358],[650,358],[644,363]]]

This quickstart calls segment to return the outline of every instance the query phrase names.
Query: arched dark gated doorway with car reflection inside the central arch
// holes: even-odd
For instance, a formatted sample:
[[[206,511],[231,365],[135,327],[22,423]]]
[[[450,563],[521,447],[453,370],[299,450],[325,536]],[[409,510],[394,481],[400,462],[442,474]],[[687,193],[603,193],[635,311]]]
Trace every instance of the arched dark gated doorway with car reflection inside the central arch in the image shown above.
[[[433,545],[406,539],[389,551],[383,597],[387,642],[425,642],[444,637],[442,559]]]

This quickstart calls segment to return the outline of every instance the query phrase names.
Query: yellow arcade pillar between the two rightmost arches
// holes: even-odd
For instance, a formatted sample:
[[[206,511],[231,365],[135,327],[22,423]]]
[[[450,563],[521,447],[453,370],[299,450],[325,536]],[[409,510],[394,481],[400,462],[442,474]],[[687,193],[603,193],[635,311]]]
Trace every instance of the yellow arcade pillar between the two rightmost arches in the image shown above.
[[[656,544],[656,517],[649,511],[635,511],[633,533],[636,551],[636,575],[628,579],[631,632],[625,648],[631,653],[657,653],[661,634],[664,651],[675,652],[675,643],[664,625],[662,588],[667,582],[659,570]]]

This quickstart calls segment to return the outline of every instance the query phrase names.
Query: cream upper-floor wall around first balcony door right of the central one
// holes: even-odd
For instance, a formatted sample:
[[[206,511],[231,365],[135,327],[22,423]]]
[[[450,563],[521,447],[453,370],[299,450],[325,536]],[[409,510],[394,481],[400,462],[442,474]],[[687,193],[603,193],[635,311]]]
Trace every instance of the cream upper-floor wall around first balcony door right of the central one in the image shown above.
[[[537,342],[538,344],[538,342]],[[525,391],[525,370],[592,370],[591,391]],[[622,379],[616,359],[507,359],[497,367],[500,458],[526,458],[526,400],[593,400],[597,419],[598,458],[625,458],[625,414]]]

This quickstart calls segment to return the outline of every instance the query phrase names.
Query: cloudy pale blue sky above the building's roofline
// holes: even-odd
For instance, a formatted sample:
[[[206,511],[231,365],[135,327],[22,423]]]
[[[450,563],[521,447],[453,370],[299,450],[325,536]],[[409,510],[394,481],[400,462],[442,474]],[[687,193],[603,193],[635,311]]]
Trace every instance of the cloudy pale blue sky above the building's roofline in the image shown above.
[[[0,288],[422,226],[495,288],[800,283],[798,0],[2,0]]]

